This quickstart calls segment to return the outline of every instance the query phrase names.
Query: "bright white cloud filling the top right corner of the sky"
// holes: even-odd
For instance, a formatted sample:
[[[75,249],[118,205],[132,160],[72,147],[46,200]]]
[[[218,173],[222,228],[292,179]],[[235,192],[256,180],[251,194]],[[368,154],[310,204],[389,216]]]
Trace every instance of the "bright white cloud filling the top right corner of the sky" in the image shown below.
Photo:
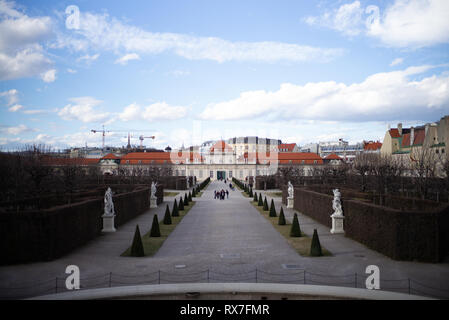
[[[363,32],[388,47],[420,48],[449,43],[448,17],[447,0],[395,0],[383,13],[377,6],[362,8],[354,1],[305,22],[349,36]]]

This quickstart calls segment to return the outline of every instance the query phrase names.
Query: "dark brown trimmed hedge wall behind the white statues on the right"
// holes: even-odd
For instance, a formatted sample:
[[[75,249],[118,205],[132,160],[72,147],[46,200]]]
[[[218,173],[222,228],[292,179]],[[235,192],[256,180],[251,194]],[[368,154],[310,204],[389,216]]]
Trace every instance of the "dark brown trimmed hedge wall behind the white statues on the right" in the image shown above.
[[[333,196],[305,188],[294,190],[294,209],[331,228]],[[418,208],[428,202],[400,201],[415,201]],[[434,203],[427,211],[401,211],[343,196],[342,207],[345,235],[392,259],[435,263],[449,253],[449,204]]]

